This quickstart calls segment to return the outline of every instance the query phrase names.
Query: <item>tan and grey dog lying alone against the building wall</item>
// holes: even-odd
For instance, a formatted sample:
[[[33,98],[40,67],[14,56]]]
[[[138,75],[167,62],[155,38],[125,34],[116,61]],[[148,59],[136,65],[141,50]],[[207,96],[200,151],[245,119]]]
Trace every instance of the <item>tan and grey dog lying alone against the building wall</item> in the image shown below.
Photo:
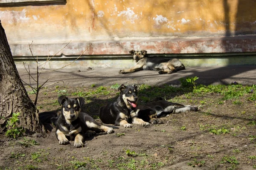
[[[179,59],[164,59],[160,57],[146,57],[147,51],[129,51],[133,55],[136,64],[134,67],[126,70],[120,70],[119,73],[127,74],[141,70],[159,70],[159,74],[172,74],[174,72],[185,70],[185,66]]]

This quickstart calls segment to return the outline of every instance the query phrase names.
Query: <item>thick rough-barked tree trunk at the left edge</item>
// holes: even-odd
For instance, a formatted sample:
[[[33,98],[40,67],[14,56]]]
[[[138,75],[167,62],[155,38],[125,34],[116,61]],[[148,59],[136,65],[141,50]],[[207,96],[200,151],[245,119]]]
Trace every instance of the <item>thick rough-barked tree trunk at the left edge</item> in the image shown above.
[[[18,74],[5,31],[0,21],[0,132],[3,133],[7,119],[20,112],[20,126],[27,133],[44,133],[35,105],[29,99]]]

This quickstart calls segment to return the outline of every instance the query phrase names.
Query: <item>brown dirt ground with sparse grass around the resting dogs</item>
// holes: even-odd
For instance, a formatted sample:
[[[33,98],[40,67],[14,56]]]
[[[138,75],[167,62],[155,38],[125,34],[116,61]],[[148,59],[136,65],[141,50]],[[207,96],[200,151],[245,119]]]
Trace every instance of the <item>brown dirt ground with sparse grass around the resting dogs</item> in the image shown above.
[[[85,95],[86,104],[82,111],[98,119],[99,107],[116,99],[117,84],[140,86],[179,85],[181,77],[199,77],[197,83],[230,84],[237,81],[244,85],[255,84],[256,66],[226,68],[192,68],[172,75],[159,75],[154,71],[140,71],[120,75],[118,69],[96,68],[92,70],[58,71],[45,74],[52,77],[48,84],[64,81],[40,92],[38,109],[56,111],[60,107],[58,96]],[[108,71],[107,71],[108,70]],[[117,71],[117,72],[116,72]],[[19,70],[25,81],[26,73]],[[44,77],[44,78],[45,78]],[[42,80],[43,81],[43,80]],[[99,93],[93,94],[101,86]],[[33,100],[35,95],[27,91]],[[164,88],[164,87],[163,87]],[[150,88],[149,88],[150,89]],[[139,104],[143,104],[150,92],[147,88],[139,93]],[[84,94],[90,92],[90,94]],[[0,169],[59,169],[59,170],[253,170],[256,168],[256,105],[248,101],[248,96],[236,100],[225,100],[220,104],[221,94],[183,92],[164,93],[166,99],[185,105],[201,105],[198,112],[172,114],[161,118],[163,124],[131,128],[119,127],[115,133],[98,133],[86,139],[82,148],[75,148],[73,141],[67,145],[58,144],[55,127],[46,138],[40,134],[26,139],[10,139],[1,135]],[[210,133],[209,129],[221,129],[220,134]],[[225,133],[224,130],[228,130]],[[36,143],[35,143],[35,142]]]

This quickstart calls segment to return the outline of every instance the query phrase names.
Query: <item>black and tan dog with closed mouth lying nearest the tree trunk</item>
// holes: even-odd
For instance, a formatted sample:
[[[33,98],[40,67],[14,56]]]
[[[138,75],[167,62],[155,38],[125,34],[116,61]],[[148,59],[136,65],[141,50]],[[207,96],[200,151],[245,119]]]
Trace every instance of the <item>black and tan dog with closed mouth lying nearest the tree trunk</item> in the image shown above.
[[[52,122],[56,125],[55,135],[60,144],[68,144],[69,140],[74,140],[75,147],[82,147],[85,137],[96,134],[95,131],[114,133],[112,127],[100,125],[90,115],[81,112],[84,98],[60,96],[58,103],[62,110]]]

